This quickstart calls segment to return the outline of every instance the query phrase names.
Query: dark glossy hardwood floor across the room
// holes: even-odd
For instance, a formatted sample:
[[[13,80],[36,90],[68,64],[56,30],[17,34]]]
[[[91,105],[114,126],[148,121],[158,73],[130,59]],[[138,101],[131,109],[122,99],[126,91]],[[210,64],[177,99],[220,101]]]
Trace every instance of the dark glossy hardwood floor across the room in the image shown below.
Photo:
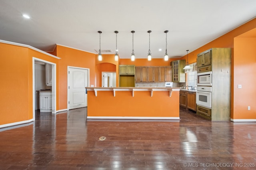
[[[0,129],[0,170],[256,169],[255,129],[182,107],[180,121],[86,120],[86,108],[37,113]]]

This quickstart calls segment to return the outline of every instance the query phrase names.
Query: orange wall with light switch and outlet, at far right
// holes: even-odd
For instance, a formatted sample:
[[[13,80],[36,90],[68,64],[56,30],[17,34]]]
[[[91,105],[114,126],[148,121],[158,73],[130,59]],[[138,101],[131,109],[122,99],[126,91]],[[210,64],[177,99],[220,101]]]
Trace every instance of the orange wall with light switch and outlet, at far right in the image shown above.
[[[256,35],[256,29],[255,29]],[[234,40],[233,119],[256,119],[256,36]],[[238,89],[238,84],[242,88]],[[247,107],[251,109],[248,110]]]

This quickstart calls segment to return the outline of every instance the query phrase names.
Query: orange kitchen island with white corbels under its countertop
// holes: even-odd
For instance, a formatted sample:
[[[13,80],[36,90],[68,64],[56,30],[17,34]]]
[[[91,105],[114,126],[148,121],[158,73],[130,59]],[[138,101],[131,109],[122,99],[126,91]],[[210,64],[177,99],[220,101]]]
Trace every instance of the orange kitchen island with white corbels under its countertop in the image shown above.
[[[180,88],[86,88],[88,119],[180,119]]]

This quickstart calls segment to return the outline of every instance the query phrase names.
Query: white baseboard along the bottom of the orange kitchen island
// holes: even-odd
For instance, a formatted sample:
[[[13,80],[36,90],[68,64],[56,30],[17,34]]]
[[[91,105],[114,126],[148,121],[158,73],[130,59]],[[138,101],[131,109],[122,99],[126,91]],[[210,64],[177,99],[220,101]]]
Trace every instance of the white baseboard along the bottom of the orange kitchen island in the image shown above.
[[[87,116],[87,119],[163,119],[180,120],[180,117],[129,117],[129,116]]]

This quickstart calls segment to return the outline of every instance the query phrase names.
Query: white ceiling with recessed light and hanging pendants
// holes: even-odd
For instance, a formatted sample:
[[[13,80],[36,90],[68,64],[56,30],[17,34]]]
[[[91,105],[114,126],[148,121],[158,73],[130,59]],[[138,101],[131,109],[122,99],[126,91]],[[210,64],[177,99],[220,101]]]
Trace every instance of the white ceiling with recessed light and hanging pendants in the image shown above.
[[[27,14],[26,19],[22,14]],[[256,17],[256,0],[0,0],[0,39],[43,51],[56,44],[121,59],[182,57]],[[162,49],[162,51],[159,51]],[[111,51],[111,52],[106,52]]]

